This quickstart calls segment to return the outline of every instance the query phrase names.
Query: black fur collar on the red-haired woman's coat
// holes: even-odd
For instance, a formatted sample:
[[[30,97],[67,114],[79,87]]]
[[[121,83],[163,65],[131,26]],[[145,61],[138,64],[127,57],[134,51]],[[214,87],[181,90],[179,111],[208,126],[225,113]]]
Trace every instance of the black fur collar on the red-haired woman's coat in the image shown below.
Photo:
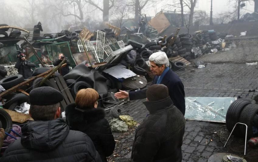
[[[75,103],[67,105],[65,116],[69,123],[92,123],[105,118],[105,110],[102,108],[85,109],[84,112],[76,110]]]

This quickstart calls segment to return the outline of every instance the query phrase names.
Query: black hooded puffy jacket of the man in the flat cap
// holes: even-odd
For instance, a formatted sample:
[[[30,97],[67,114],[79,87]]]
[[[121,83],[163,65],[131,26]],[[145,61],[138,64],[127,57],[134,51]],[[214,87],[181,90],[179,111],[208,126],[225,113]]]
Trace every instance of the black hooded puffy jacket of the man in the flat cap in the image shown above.
[[[89,136],[69,130],[63,119],[26,123],[22,133],[5,150],[1,162],[101,162]]]

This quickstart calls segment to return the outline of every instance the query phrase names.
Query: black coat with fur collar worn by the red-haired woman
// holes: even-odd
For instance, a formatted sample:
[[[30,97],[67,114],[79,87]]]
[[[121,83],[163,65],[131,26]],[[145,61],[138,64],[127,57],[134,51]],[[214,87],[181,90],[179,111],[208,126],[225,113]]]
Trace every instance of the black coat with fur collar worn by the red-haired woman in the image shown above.
[[[115,149],[115,140],[102,108],[78,109],[75,103],[65,109],[66,120],[73,130],[86,133],[94,143],[102,161]]]

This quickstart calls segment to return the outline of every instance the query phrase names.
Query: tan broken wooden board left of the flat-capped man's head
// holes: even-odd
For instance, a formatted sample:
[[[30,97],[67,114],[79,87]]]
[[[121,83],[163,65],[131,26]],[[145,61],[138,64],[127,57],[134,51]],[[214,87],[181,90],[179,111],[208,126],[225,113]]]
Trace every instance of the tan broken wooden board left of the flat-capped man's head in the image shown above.
[[[34,120],[29,114],[23,114],[9,109],[4,110],[11,116],[13,122],[24,123],[28,120]]]

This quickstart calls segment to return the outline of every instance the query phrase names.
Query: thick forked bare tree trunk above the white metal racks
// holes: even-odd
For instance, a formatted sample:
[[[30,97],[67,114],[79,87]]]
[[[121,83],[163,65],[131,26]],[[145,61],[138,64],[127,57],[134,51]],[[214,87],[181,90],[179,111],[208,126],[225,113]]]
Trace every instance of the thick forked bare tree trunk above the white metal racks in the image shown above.
[[[114,6],[115,0],[103,0],[103,8],[99,7],[98,2],[94,2],[93,0],[85,0],[85,2],[93,5],[97,9],[103,12],[103,21],[109,21],[109,10]],[[111,4],[110,4],[111,2]]]

